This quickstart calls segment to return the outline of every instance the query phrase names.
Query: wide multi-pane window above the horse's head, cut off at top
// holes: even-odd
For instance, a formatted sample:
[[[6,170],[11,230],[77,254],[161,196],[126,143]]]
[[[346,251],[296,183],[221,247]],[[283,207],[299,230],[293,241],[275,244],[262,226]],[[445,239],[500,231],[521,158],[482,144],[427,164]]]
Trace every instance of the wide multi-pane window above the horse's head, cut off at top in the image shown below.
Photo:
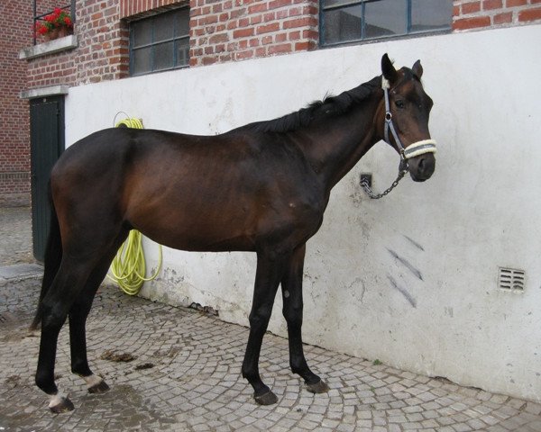
[[[321,45],[451,29],[450,0],[321,0]]]

